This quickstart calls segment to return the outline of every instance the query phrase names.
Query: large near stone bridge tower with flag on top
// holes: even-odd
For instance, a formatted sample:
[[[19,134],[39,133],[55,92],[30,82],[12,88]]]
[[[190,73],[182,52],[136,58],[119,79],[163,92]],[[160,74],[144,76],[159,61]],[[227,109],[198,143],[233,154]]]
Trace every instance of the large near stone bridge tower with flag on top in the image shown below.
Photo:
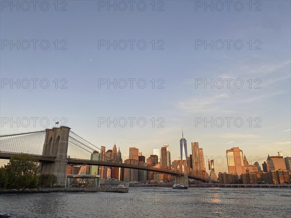
[[[42,162],[40,164],[40,174],[54,174],[59,186],[65,186],[69,132],[70,128],[67,126],[46,129],[42,155],[53,156],[55,161],[54,163]]]

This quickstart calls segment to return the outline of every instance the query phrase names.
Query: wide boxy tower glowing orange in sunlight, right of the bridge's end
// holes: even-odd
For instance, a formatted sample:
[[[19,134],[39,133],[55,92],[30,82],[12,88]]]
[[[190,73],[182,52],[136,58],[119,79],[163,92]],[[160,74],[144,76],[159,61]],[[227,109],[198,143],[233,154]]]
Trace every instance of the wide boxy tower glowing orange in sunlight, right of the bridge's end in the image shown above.
[[[226,156],[229,174],[241,175],[244,173],[243,154],[239,147],[226,150]]]

